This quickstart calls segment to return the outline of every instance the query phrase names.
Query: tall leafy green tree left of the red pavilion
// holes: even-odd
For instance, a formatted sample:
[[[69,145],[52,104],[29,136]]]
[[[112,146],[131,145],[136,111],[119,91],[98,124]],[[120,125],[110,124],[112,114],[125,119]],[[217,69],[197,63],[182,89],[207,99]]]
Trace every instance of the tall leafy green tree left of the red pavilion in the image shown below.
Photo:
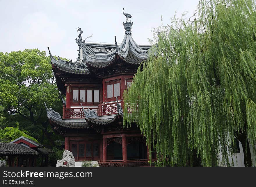
[[[40,143],[54,145],[44,102],[61,112],[61,101],[50,58],[45,51],[26,49],[0,53],[0,106],[5,118],[1,127],[16,122]],[[46,138],[45,138],[46,137]]]

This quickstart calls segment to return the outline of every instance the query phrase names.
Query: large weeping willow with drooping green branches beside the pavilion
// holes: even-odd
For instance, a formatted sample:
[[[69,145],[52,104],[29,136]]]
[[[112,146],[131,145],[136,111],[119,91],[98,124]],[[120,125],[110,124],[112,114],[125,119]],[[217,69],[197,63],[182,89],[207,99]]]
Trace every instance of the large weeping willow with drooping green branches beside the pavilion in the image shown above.
[[[158,28],[156,53],[141,64],[124,92],[124,125],[140,127],[159,163],[168,158],[171,166],[192,165],[196,152],[203,166],[229,166],[236,137],[245,166],[252,165],[255,4],[202,0],[197,20],[174,17],[170,25]]]

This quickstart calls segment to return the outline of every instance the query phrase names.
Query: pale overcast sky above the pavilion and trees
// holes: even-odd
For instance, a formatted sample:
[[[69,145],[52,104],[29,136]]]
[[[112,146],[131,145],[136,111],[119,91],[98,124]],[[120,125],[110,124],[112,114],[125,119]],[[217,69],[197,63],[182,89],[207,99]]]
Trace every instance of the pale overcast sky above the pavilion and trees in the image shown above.
[[[132,15],[132,37],[138,44],[148,44],[151,28],[170,22],[175,10],[177,16],[188,11],[191,17],[199,0],[0,0],[0,51],[10,52],[25,48],[38,48],[56,56],[75,61],[78,46],[76,28],[82,37],[93,34],[87,41],[122,42],[125,16],[122,9]]]

